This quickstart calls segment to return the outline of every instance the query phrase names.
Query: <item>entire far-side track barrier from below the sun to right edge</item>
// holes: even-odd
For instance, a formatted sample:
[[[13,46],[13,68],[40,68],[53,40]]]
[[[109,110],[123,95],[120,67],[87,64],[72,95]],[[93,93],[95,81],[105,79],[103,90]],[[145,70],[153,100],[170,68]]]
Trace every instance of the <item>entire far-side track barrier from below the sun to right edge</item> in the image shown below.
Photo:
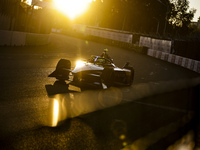
[[[77,25],[77,26],[79,26],[79,25]],[[82,27],[81,28],[82,30],[80,30],[80,27]],[[133,50],[135,52],[146,54],[146,55],[149,55],[149,56],[152,56],[152,57],[164,60],[164,61],[168,61],[170,63],[174,63],[174,64],[180,65],[182,67],[185,67],[185,68],[188,68],[190,70],[200,73],[200,61],[196,61],[196,60],[192,60],[192,59],[185,58],[182,56],[170,54],[171,45],[172,45],[171,41],[151,39],[149,37],[142,37],[142,38],[140,38],[140,45],[137,45],[137,44],[133,44],[133,43],[129,43],[129,42],[120,41],[119,38],[117,40],[114,40],[114,39],[108,39],[108,38],[104,38],[104,37],[98,37],[98,34],[102,34],[102,33],[106,34],[106,33],[104,33],[102,31],[102,32],[97,32],[98,34],[94,34],[93,33],[93,32],[95,32],[94,29],[87,29],[88,31],[90,30],[90,32],[93,35],[89,35],[89,34],[86,35],[86,34],[84,34],[86,29],[87,29],[86,26],[84,26],[84,27],[79,26],[77,28],[74,28],[75,32],[69,32],[67,34],[70,34],[71,36],[76,36],[79,38],[98,41],[98,42],[109,44],[112,46],[127,48],[127,49]],[[77,30],[82,31],[82,33],[80,31],[77,32]],[[152,41],[153,41],[153,44],[152,44]],[[143,46],[141,46],[141,45],[143,45]],[[148,47],[152,46],[152,45],[154,47],[155,47],[155,45],[157,45],[157,47],[161,48],[161,50],[163,50],[163,51],[149,49]]]

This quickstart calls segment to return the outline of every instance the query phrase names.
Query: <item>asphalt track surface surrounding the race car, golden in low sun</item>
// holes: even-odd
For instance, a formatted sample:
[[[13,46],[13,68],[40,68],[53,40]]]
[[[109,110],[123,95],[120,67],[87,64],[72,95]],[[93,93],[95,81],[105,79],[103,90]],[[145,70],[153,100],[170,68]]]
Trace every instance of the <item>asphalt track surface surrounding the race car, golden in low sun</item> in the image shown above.
[[[134,67],[135,80],[130,88],[112,88],[107,93],[87,91],[81,96],[76,92],[69,94],[65,85],[52,88],[55,79],[47,76],[60,58],[71,60],[74,66],[76,60],[100,55],[104,48],[108,48],[117,66],[122,67],[129,61]],[[141,99],[151,92],[170,91],[182,86],[176,81],[188,82],[199,77],[199,74],[183,67],[130,50],[57,34],[51,35],[49,45],[0,47],[0,53],[2,149],[121,149],[176,122],[188,111],[184,107],[161,107],[133,99]],[[163,89],[163,85],[168,83],[170,85]],[[72,90],[78,91],[74,87]],[[98,104],[94,103],[96,97],[100,97]],[[59,106],[57,113],[61,114],[61,122],[56,124],[52,120],[55,99]],[[79,103],[76,105],[77,99]],[[118,105],[120,103],[123,104]],[[50,127],[55,125],[58,127]]]

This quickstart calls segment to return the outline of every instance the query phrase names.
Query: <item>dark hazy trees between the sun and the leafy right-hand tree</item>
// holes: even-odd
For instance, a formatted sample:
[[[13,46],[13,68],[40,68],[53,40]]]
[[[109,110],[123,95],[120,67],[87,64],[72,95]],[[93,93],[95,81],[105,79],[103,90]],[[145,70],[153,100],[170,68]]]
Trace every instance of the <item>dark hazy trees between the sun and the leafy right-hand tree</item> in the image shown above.
[[[166,11],[158,0],[96,0],[88,12],[87,23],[119,30],[155,32],[158,23],[164,26]]]

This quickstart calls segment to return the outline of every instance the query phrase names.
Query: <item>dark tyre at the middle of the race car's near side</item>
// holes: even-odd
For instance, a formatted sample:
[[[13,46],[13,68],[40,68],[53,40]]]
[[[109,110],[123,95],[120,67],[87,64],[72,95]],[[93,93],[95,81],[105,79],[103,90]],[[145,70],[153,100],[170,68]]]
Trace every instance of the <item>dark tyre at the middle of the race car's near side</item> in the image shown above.
[[[114,82],[114,68],[113,67],[105,67],[101,74],[102,82],[107,86],[110,87],[113,85]]]

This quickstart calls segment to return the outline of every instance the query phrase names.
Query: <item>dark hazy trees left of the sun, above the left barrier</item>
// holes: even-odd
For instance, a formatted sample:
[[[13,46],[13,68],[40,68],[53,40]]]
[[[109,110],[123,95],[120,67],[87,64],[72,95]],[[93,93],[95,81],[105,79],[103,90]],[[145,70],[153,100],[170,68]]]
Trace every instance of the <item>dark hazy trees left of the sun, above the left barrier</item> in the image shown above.
[[[24,4],[26,2],[27,0],[0,0],[0,30],[50,33],[52,10],[35,10]]]

